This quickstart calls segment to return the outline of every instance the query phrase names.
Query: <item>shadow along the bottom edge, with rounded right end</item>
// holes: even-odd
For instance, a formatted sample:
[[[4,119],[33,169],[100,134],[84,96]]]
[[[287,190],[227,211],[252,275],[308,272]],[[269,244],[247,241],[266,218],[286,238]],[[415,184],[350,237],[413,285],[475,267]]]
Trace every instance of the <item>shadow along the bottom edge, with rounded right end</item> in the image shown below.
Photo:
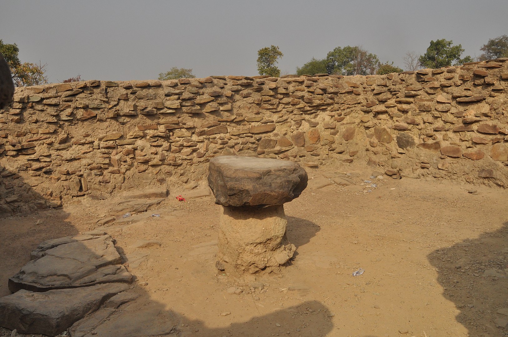
[[[143,298],[144,297],[144,298]],[[71,335],[144,337],[177,335],[179,337],[223,337],[249,336],[269,337],[273,335],[326,336],[333,329],[330,311],[318,301],[302,302],[299,306],[279,309],[274,313],[260,315],[245,322],[231,322],[238,312],[217,314],[217,321],[226,322],[226,327],[211,328],[211,322],[187,319],[185,313],[176,313],[164,308],[160,302],[140,296],[133,302],[122,305],[108,319],[103,315],[107,308],[91,314],[81,326],[76,326]],[[213,311],[215,308],[207,308]],[[100,322],[100,325],[96,325]],[[231,322],[229,325],[227,322]],[[88,324],[90,323],[90,324]],[[214,322],[215,323],[215,322]],[[73,327],[74,328],[74,327]]]

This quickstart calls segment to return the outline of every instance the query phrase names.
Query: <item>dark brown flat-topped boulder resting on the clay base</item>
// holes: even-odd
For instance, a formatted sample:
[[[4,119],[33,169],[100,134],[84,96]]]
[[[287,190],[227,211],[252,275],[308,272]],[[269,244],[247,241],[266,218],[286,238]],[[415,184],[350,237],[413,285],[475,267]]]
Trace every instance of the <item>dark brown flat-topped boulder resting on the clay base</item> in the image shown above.
[[[307,187],[307,173],[292,161],[219,156],[210,159],[208,184],[216,204],[274,206],[297,198]]]

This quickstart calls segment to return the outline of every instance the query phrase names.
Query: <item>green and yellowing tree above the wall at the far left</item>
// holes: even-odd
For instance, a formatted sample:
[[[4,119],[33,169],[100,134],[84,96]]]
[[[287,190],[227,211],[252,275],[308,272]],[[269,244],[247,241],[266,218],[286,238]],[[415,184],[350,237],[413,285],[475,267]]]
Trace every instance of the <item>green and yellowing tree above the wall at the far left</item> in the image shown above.
[[[11,69],[12,79],[18,87],[29,85],[47,84],[48,77],[46,73],[47,64],[24,62],[21,63],[18,57],[19,48],[14,44],[4,44],[0,40],[0,53],[2,53]]]

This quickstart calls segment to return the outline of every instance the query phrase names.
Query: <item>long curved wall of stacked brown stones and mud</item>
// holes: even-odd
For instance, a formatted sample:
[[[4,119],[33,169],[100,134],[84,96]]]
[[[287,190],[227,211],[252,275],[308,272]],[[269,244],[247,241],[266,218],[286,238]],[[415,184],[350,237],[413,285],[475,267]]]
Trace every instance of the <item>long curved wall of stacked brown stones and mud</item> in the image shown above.
[[[507,60],[379,76],[17,88],[0,110],[0,213],[193,184],[225,153],[506,187]],[[30,193],[42,199],[24,203]]]

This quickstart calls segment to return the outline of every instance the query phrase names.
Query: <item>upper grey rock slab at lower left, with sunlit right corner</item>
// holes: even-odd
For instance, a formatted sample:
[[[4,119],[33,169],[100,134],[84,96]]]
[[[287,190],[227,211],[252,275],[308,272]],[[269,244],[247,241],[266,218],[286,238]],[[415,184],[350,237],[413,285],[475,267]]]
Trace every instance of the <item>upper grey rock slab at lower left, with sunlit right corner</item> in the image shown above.
[[[92,235],[92,238],[78,235],[47,241],[31,255],[35,259],[9,279],[10,291],[47,291],[132,282],[132,275],[120,264],[120,254],[110,235]]]

